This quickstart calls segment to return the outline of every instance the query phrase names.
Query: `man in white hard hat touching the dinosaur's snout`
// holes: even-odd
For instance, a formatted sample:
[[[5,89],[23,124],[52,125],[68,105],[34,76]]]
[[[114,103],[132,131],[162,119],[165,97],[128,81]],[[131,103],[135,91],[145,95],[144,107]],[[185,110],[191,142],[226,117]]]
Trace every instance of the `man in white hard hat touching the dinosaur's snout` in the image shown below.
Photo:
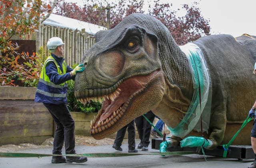
[[[63,57],[63,45],[61,38],[53,37],[47,42],[47,48],[51,55],[44,62],[38,82],[35,102],[43,102],[49,110],[56,131],[53,142],[52,154],[62,155],[62,146],[65,143],[66,154],[75,154],[75,123],[67,107],[67,84],[77,72],[84,71],[83,64],[70,68]],[[52,163],[83,163],[86,157],[52,156]]]

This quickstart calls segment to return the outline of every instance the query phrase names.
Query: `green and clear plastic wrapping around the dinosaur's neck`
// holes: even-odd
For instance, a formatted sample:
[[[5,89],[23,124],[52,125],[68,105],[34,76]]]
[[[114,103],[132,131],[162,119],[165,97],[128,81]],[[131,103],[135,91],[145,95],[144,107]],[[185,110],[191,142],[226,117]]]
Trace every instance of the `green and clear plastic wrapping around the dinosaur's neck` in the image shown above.
[[[202,130],[203,132],[208,130],[212,102],[212,83],[204,55],[200,48],[193,43],[180,46],[180,48],[188,58],[189,67],[192,72],[194,94],[188,111],[178,126],[175,128],[167,126],[167,128],[173,135],[183,138],[193,129],[198,132],[201,131],[201,115]],[[201,94],[201,101],[199,94]]]

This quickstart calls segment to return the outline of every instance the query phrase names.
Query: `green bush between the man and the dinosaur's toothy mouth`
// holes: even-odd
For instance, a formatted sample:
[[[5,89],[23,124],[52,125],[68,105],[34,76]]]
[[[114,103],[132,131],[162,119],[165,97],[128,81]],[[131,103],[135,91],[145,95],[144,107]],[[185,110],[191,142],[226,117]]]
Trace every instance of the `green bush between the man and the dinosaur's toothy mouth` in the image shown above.
[[[78,64],[74,64],[72,68],[74,69]],[[74,80],[68,80],[68,110],[73,112],[98,112],[101,108],[101,104],[99,102],[87,102],[85,105],[81,102],[78,102],[74,96]]]

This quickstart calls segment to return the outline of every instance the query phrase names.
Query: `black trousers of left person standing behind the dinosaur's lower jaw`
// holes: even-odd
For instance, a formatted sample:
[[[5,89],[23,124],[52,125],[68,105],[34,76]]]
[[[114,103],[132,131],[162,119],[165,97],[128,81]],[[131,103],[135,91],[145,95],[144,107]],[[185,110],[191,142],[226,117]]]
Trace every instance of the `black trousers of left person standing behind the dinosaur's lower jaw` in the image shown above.
[[[118,132],[116,133],[116,139],[114,141],[114,143],[117,146],[121,146],[122,142],[124,140],[124,135],[126,132],[126,128],[128,131],[128,148],[129,150],[134,150],[135,149],[135,126],[134,126],[134,120],[132,120],[129,124],[127,124],[126,126],[124,126],[123,128],[121,128],[120,130],[118,130]]]

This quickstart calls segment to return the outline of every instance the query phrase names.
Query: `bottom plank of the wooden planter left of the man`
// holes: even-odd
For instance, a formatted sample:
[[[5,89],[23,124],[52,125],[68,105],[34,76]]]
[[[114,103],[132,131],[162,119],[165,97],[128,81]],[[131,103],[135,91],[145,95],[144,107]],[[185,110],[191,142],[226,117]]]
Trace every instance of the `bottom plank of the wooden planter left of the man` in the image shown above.
[[[18,138],[26,136],[46,136],[52,135],[53,122],[48,124],[22,124],[1,126],[0,138]]]

